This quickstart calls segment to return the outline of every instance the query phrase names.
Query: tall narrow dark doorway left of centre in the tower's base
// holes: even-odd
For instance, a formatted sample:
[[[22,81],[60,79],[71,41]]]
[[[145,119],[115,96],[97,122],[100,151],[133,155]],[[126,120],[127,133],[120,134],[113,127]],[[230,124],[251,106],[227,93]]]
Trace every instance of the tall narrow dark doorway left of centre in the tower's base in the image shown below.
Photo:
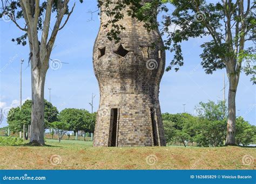
[[[109,128],[109,146],[116,146],[117,141],[117,109],[111,109],[110,128]]]

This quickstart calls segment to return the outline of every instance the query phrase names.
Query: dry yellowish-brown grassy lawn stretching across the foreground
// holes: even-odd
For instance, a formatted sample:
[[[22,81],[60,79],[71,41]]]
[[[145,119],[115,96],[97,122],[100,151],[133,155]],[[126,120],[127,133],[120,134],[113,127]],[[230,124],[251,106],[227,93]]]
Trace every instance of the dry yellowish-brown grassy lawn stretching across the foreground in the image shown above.
[[[45,143],[0,146],[0,169],[256,169],[256,148],[92,147],[91,141],[56,139]],[[254,162],[245,165],[243,157]]]

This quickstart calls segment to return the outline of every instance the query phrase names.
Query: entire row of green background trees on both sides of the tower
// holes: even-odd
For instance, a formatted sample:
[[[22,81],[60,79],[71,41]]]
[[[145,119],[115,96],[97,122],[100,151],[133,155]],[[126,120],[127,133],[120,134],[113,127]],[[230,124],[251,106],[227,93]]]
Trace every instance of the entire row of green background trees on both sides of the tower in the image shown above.
[[[9,111],[7,122],[12,132],[23,131],[28,139],[28,125],[31,122],[31,100],[26,100],[19,107]],[[85,109],[68,108],[58,112],[50,102],[44,102],[45,129],[51,129],[50,133],[56,133],[59,141],[62,137],[73,131],[94,132],[96,115]],[[197,146],[223,146],[226,138],[227,107],[224,101],[215,104],[212,101],[200,102],[195,108],[197,116],[187,113],[169,114],[164,113],[163,123],[165,138],[168,144],[187,142],[196,143]],[[237,133],[235,140],[237,145],[248,145],[256,142],[256,126],[251,125],[243,117],[237,117]]]

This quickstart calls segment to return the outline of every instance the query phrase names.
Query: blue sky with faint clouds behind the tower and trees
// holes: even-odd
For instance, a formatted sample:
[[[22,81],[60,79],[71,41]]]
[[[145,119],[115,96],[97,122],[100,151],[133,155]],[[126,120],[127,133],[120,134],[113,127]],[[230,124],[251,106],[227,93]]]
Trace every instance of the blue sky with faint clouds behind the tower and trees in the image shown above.
[[[70,1],[70,5],[73,1]],[[62,29],[56,39],[51,59],[57,59],[69,64],[53,70],[49,68],[45,82],[45,98],[59,111],[65,108],[83,108],[90,111],[91,93],[96,95],[95,108],[98,109],[99,89],[92,68],[92,48],[99,29],[97,12],[91,15],[89,11],[97,10],[96,1],[77,2],[75,10],[68,24]],[[93,20],[89,21],[91,19]],[[5,109],[17,107],[19,104],[19,67],[23,64],[22,99],[31,99],[31,76],[28,66],[29,47],[16,45],[12,38],[22,35],[22,31],[12,22],[0,20],[0,105]],[[185,65],[179,72],[165,72],[160,84],[160,105],[162,112],[171,114],[185,111],[194,115],[194,107],[199,102],[208,100],[217,102],[223,100],[223,74],[225,70],[218,70],[212,75],[206,75],[200,65],[200,45],[210,37],[191,39],[182,44]],[[172,54],[166,52],[166,64],[172,59]],[[227,76],[226,81],[227,81]],[[228,88],[226,88],[227,97]],[[255,86],[250,77],[241,74],[237,92],[237,110],[246,121],[255,123],[256,96]],[[238,115],[238,111],[237,111]],[[0,127],[5,126],[4,119]]]

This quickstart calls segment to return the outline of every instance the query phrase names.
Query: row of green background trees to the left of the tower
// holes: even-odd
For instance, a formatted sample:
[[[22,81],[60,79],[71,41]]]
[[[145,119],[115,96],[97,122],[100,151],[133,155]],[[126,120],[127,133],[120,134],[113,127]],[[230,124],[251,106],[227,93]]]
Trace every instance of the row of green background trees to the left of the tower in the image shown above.
[[[23,131],[25,124],[25,138],[28,139],[28,125],[31,124],[32,101],[26,100],[19,107],[10,109],[7,117],[8,128],[12,132]],[[59,140],[68,131],[79,130],[84,132],[93,132],[95,128],[96,112],[91,114],[85,109],[64,109],[58,111],[50,102],[44,100],[44,129],[53,130]]]

